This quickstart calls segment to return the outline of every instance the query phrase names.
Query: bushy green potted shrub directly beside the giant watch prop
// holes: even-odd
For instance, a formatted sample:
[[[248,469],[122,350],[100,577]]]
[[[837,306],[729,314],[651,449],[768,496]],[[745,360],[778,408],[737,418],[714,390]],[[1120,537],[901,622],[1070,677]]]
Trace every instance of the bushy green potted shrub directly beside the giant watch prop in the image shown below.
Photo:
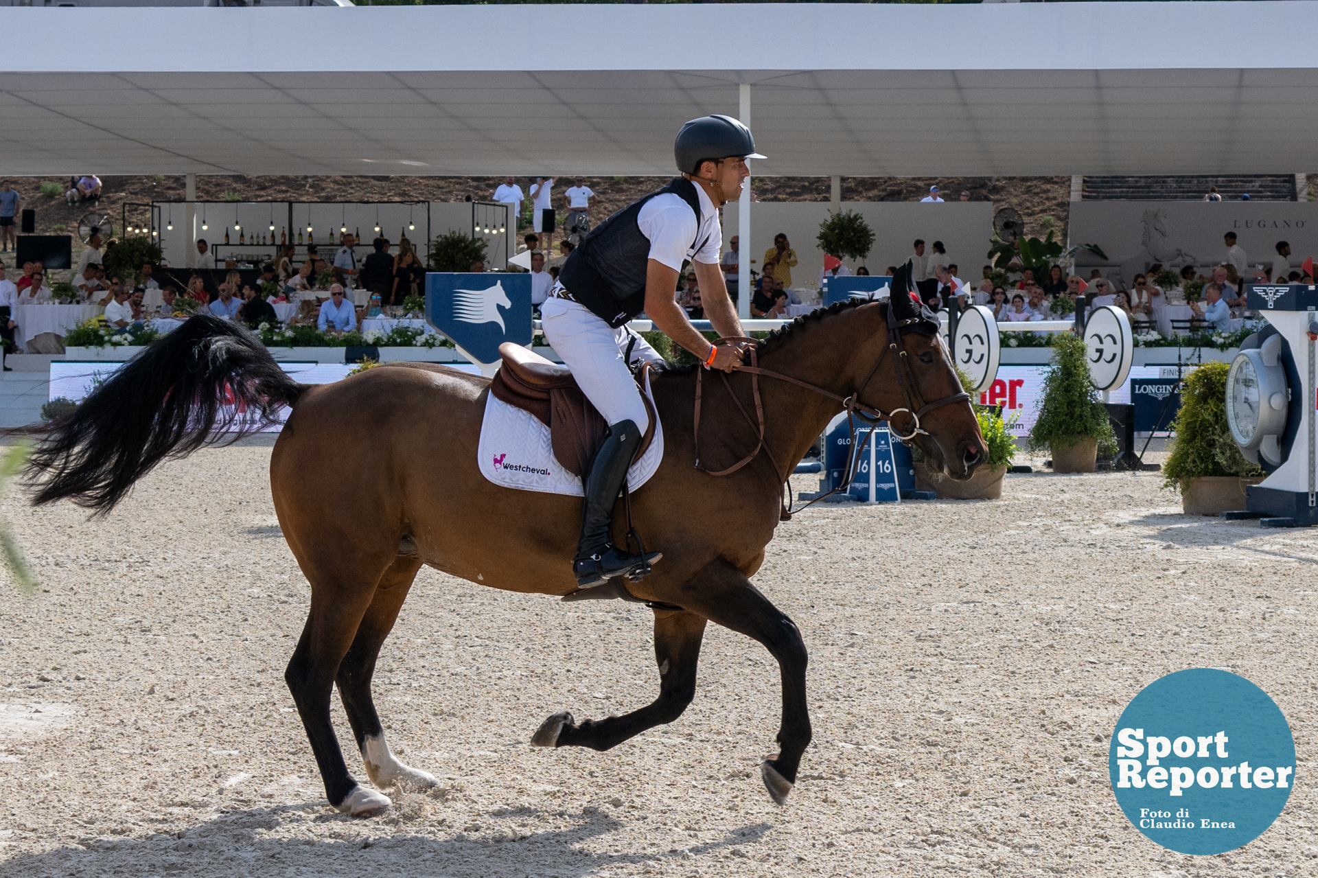
[[[1185,380],[1181,411],[1172,430],[1172,454],[1162,464],[1166,488],[1181,490],[1186,515],[1219,515],[1244,509],[1244,488],[1263,481],[1263,468],[1244,459],[1227,428],[1228,363],[1205,363]]]

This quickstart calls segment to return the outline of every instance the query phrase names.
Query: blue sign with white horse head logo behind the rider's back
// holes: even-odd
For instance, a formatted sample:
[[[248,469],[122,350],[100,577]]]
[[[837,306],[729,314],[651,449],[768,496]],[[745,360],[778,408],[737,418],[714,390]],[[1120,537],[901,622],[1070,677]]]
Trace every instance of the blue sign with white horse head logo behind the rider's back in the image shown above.
[[[498,345],[531,343],[531,276],[431,273],[426,322],[481,363],[498,363]]]

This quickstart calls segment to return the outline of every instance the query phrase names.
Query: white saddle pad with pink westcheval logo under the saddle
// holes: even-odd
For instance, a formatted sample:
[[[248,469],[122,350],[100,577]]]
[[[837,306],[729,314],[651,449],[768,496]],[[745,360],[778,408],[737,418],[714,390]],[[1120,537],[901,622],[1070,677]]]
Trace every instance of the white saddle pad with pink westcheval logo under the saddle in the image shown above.
[[[646,378],[646,395],[650,381]],[[654,397],[651,395],[651,402]],[[655,424],[655,438],[627,471],[627,485],[637,490],[659,469],[663,460],[663,424]],[[481,475],[502,488],[539,490],[550,494],[583,497],[581,480],[563,468],[550,444],[550,428],[530,411],[510,406],[493,394],[485,398],[485,419],[476,448]]]

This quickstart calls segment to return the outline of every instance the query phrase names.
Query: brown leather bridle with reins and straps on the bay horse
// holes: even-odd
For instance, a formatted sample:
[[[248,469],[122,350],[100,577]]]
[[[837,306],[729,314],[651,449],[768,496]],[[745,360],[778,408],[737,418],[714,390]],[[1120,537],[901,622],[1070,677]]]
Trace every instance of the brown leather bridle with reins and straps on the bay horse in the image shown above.
[[[813,385],[813,384],[809,384],[807,381],[801,381],[799,378],[793,378],[793,377],[783,374],[780,372],[774,372],[771,369],[763,369],[763,368],[760,368],[758,365],[758,360],[757,360],[757,347],[759,345],[759,341],[755,340],[755,339],[749,339],[746,336],[728,336],[728,337],[718,339],[718,341],[716,341],[714,344],[720,344],[720,343],[724,343],[724,341],[749,343],[750,344],[750,348],[749,348],[749,352],[750,352],[750,365],[737,364],[735,366],[733,366],[733,370],[734,372],[746,372],[746,373],[750,374],[751,398],[755,401],[755,418],[754,419],[751,419],[750,413],[746,411],[746,406],[742,405],[741,399],[737,398],[737,394],[733,393],[731,382],[728,380],[728,373],[726,372],[720,372],[720,377],[724,381],[724,386],[728,389],[728,395],[730,395],[731,399],[733,399],[733,402],[737,403],[737,409],[742,413],[742,417],[746,418],[746,422],[750,423],[751,427],[757,427],[758,428],[758,440],[755,443],[755,448],[751,450],[751,452],[749,455],[746,455],[745,457],[742,457],[741,460],[738,460],[737,463],[734,463],[731,467],[728,467],[726,469],[714,471],[714,469],[708,469],[704,465],[701,465],[701,463],[700,463],[700,402],[701,402],[701,395],[702,395],[702,390],[704,390],[702,381],[704,381],[704,372],[705,370],[704,369],[697,369],[696,370],[695,427],[693,427],[693,431],[692,431],[692,442],[693,442],[695,448],[696,448],[696,469],[699,469],[700,472],[708,473],[710,476],[730,476],[731,473],[737,472],[738,469],[741,469],[742,467],[745,467],[746,464],[749,464],[751,460],[754,460],[755,456],[759,455],[759,452],[763,450],[764,455],[768,457],[768,461],[774,465],[774,471],[778,473],[778,479],[782,483],[782,485],[784,486],[784,490],[787,493],[787,500],[782,501],[782,510],[779,513],[779,519],[780,521],[789,521],[791,517],[796,512],[800,512],[799,509],[793,509],[792,492],[791,492],[791,488],[788,485],[788,477],[791,476],[791,473],[786,472],[783,469],[783,467],[779,465],[778,459],[774,456],[774,452],[770,450],[768,444],[764,442],[764,403],[763,403],[763,401],[760,399],[760,395],[759,395],[759,378],[760,378],[760,376],[763,376],[766,378],[775,378],[778,381],[787,381],[788,384],[795,384],[799,388],[805,388],[807,390],[809,390],[812,393],[817,393],[820,395],[828,397],[829,399],[834,399],[836,402],[842,403],[842,410],[846,413],[846,424],[847,424],[847,430],[851,434],[850,447],[853,450],[851,455],[847,459],[846,472],[844,472],[842,480],[838,483],[838,485],[836,488],[833,488],[833,490],[830,490],[830,492],[828,492],[825,494],[820,494],[815,500],[812,500],[808,504],[805,504],[804,506],[801,506],[801,509],[808,509],[809,506],[813,506],[815,504],[820,502],[825,497],[829,497],[829,496],[837,493],[838,490],[841,490],[844,486],[851,484],[851,479],[855,475],[855,467],[858,465],[858,463],[861,460],[861,455],[865,452],[866,446],[869,446],[870,438],[874,435],[873,430],[869,431],[866,434],[865,442],[861,444],[859,448],[857,448],[857,446],[855,446],[855,438],[857,438],[857,434],[859,432],[859,427],[855,423],[855,415],[857,415],[857,413],[862,414],[866,419],[869,419],[869,421],[871,421],[874,423],[878,423],[880,421],[886,421],[888,423],[888,428],[892,430],[892,435],[896,439],[899,439],[900,442],[909,442],[911,439],[913,439],[917,435],[929,435],[929,432],[920,426],[920,418],[923,418],[929,411],[933,411],[934,409],[938,409],[941,406],[945,406],[945,405],[949,405],[949,403],[953,403],[953,402],[961,402],[963,399],[970,399],[970,394],[966,393],[965,390],[961,390],[958,393],[953,393],[953,394],[949,394],[946,397],[942,397],[941,399],[934,399],[933,402],[924,402],[924,395],[920,393],[920,385],[916,381],[915,370],[911,368],[911,363],[909,363],[909,360],[907,357],[905,351],[902,348],[900,341],[902,341],[902,334],[903,332],[905,332],[907,330],[913,328],[915,326],[917,326],[920,323],[928,323],[928,322],[931,322],[931,318],[927,318],[927,316],[913,316],[913,318],[908,318],[905,320],[898,320],[896,315],[894,314],[892,305],[890,302],[888,307],[887,307],[887,322],[888,322],[888,344],[887,344],[887,347],[883,348],[882,351],[879,351],[879,356],[875,357],[874,365],[870,366],[870,370],[869,370],[869,373],[866,373],[865,380],[859,384],[859,386],[851,394],[849,394],[846,397],[838,395],[838,394],[833,393],[832,390],[825,390],[824,388],[821,388],[818,385]],[[892,411],[883,411],[882,409],[878,409],[875,406],[869,406],[869,405],[861,402],[861,394],[865,393],[865,389],[867,386],[870,386],[870,381],[874,380],[874,376],[879,370],[879,364],[883,363],[884,355],[888,353],[888,352],[892,353],[892,365],[894,365],[894,369],[896,372],[898,386],[902,388],[902,393],[905,395],[905,402],[907,403],[905,403],[905,406],[900,406],[898,409],[894,409]],[[903,435],[902,432],[898,432],[895,430],[894,417],[899,415],[900,413],[905,413],[911,418],[911,424],[909,424],[911,432],[908,432],[905,435]]]

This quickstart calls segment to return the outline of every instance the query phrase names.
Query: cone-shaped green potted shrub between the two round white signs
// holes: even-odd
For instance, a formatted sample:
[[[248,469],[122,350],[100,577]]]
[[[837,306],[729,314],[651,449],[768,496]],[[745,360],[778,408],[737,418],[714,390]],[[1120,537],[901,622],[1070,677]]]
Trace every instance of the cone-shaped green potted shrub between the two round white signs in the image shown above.
[[[1116,454],[1116,436],[1089,381],[1085,340],[1073,332],[1057,332],[1052,348],[1053,368],[1044,378],[1029,448],[1050,450],[1053,472],[1094,472],[1099,451]]]

